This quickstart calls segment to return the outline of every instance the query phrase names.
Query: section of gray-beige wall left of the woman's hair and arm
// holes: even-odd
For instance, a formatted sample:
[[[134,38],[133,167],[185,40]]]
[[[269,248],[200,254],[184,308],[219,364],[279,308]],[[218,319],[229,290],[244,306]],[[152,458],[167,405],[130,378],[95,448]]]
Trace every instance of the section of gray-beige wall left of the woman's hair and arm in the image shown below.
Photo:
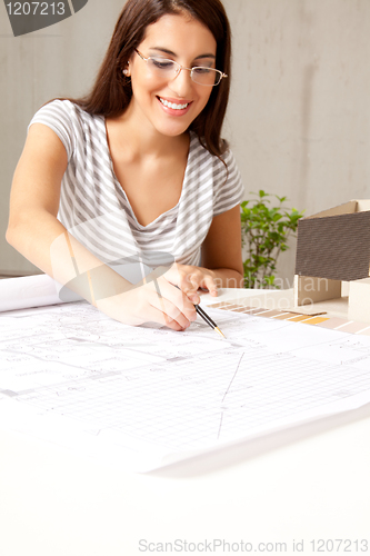
[[[54,97],[78,97],[92,85],[106,53],[122,0],[89,0],[74,16],[14,38],[0,4],[0,274],[39,270],[10,247],[8,224],[12,175],[33,113]]]

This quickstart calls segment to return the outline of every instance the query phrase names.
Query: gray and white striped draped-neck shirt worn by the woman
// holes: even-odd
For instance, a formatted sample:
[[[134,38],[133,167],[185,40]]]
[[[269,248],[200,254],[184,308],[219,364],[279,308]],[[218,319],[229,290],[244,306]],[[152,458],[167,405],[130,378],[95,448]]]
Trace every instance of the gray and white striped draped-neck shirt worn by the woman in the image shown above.
[[[223,156],[227,172],[191,132],[179,202],[141,226],[114,176],[103,117],[69,100],[54,100],[34,115],[30,126],[36,122],[51,128],[68,155],[58,219],[110,266],[138,257],[150,267],[171,260],[199,265],[212,218],[241,201],[243,187],[231,151]]]

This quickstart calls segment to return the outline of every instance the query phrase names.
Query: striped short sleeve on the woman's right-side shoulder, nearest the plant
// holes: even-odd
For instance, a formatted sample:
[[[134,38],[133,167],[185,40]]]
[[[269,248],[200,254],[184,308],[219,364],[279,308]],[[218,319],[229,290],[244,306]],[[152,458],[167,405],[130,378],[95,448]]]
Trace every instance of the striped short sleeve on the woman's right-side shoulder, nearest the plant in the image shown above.
[[[213,216],[240,205],[243,198],[243,183],[231,150],[223,155],[226,166],[216,159],[213,167]]]

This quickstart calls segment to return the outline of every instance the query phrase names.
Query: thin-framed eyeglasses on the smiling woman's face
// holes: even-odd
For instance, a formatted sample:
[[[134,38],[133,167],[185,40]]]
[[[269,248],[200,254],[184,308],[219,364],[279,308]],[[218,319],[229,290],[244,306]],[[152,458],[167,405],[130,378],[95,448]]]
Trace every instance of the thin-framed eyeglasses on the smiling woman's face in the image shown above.
[[[174,60],[168,60],[167,58],[162,58],[160,56],[150,56],[149,58],[146,58],[141,52],[139,52],[139,50],[134,49],[134,51],[147,62],[148,68],[153,75],[170,81],[176,79],[183,69],[190,71],[190,77],[194,83],[206,85],[207,87],[214,87],[220,83],[222,78],[228,77],[226,73],[222,73],[222,71],[213,68],[207,68],[204,66],[184,68]]]

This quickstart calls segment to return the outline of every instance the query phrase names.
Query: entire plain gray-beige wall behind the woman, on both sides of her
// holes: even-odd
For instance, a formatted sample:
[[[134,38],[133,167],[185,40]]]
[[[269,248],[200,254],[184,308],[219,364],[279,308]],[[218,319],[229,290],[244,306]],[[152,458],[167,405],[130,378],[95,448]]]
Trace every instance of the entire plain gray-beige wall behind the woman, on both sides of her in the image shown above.
[[[0,272],[34,268],[4,239],[11,177],[33,112],[78,96],[122,1],[89,0],[72,18],[13,38],[0,6]],[[288,196],[310,215],[370,198],[370,0],[224,0],[233,30],[224,136],[249,191]],[[280,264],[291,280],[294,245]]]

